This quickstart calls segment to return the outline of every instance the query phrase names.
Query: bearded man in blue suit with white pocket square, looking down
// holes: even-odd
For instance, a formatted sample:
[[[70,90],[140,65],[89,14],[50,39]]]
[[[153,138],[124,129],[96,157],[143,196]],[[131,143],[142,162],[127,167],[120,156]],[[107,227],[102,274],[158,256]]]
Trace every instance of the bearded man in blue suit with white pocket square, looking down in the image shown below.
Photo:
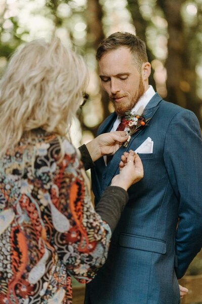
[[[128,190],[129,202],[107,262],[86,285],[85,303],[179,304],[177,279],[202,246],[198,121],[191,111],[164,101],[148,85],[150,64],[145,44],[136,36],[110,35],[101,42],[96,58],[102,86],[115,108],[98,134],[116,130],[126,111],[150,120],[110,162],[99,159],[92,170],[95,203],[118,174],[124,151],[139,151],[144,177]]]

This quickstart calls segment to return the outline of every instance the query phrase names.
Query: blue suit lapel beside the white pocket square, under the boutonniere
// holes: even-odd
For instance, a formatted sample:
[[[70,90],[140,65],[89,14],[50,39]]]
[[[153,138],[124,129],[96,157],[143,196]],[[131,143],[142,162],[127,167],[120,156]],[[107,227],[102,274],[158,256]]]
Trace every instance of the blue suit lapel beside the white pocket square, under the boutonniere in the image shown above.
[[[143,116],[145,117],[145,119],[150,118],[150,121],[148,122],[148,126],[145,126],[145,128],[149,128],[149,125],[152,123],[152,118],[154,117],[156,111],[158,110],[159,103],[161,102],[161,100],[162,100],[161,96],[158,93],[156,93],[146,105],[143,112]],[[108,186],[111,183],[112,178],[116,175],[122,154],[125,151],[129,151],[131,149],[131,145],[135,137],[139,136],[139,134],[143,132],[143,130],[144,128],[137,131],[137,133],[135,133],[134,135],[132,135],[127,147],[121,146],[120,149],[116,151],[111,162],[107,166],[106,186]]]

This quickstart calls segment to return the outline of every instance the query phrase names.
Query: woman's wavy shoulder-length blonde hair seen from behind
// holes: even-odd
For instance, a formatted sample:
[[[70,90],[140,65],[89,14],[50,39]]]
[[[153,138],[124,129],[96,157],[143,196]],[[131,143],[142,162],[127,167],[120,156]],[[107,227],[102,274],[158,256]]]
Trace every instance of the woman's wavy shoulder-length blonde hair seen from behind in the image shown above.
[[[0,155],[33,129],[66,136],[87,82],[83,58],[58,38],[16,51],[1,81]]]

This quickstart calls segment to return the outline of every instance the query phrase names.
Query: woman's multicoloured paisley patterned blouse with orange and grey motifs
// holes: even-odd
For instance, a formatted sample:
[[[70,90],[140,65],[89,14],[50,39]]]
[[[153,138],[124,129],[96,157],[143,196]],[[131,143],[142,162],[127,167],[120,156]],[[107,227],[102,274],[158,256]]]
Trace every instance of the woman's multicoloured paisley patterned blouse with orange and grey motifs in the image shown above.
[[[72,303],[70,274],[90,281],[111,237],[76,149],[37,132],[0,162],[0,304]]]

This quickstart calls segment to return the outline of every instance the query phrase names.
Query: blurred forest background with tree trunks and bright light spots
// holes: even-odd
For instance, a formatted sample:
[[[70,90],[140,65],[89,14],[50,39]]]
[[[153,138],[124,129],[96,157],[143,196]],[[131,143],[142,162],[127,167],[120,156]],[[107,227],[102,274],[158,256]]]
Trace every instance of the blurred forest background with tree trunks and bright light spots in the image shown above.
[[[72,128],[79,146],[113,111],[100,87],[95,52],[100,40],[116,31],[145,41],[150,84],[167,101],[192,110],[201,125],[202,0],[0,0],[0,74],[16,48],[39,37],[48,41],[56,34],[82,54],[90,73],[90,99]],[[202,274],[201,252],[187,274]]]

